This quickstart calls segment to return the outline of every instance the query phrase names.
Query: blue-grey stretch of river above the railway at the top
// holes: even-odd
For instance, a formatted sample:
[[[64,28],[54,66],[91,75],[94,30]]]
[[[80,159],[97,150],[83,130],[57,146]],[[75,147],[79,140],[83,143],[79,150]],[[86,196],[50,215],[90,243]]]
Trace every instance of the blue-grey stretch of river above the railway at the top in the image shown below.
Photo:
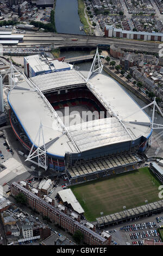
[[[58,33],[80,34],[83,26],[78,15],[78,0],[57,0],[55,4],[55,27]]]

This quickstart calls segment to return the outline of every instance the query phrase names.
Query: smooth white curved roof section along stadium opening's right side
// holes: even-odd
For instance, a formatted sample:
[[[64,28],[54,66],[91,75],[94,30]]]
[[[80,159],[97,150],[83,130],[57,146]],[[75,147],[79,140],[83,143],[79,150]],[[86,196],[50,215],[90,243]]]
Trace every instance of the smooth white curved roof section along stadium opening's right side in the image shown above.
[[[90,83],[114,113],[123,120],[133,139],[151,134],[150,119],[129,94],[111,77],[98,74],[90,78]],[[136,112],[137,111],[137,112]],[[136,112],[136,113],[135,113]]]

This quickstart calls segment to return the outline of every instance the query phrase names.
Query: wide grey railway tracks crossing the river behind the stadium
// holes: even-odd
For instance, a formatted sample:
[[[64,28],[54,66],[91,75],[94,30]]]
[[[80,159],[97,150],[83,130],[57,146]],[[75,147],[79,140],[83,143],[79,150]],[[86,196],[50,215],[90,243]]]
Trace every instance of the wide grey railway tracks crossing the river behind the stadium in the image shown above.
[[[78,39],[77,41],[72,41],[73,38]],[[72,34],[59,34],[55,33],[51,36],[49,34],[26,34],[24,35],[22,43],[18,46],[25,45],[39,45],[39,44],[54,44],[54,47],[96,47],[98,44],[116,44],[122,50],[137,50],[144,52],[159,52],[159,42],[148,42],[148,41],[138,41],[129,39],[116,39],[116,38],[104,38],[102,36],[85,36],[85,35],[72,35]]]

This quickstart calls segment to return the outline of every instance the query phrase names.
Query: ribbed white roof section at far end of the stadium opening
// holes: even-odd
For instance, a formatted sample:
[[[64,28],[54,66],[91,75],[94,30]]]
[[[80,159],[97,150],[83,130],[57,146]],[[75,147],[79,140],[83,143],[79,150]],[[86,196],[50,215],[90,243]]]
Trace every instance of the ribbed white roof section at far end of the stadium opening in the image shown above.
[[[41,92],[45,92],[53,88],[59,89],[61,87],[72,86],[76,84],[85,84],[84,79],[73,69],[34,76],[30,79],[36,84]]]

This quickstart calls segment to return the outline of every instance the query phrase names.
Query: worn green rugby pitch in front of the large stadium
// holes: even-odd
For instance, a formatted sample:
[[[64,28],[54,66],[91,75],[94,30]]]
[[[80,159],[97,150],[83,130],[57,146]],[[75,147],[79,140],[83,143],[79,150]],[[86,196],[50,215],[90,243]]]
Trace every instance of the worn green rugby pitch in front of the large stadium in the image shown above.
[[[110,176],[110,178],[86,182],[70,187],[85,211],[89,221],[100,216],[160,200],[158,179],[148,167],[133,172]]]

